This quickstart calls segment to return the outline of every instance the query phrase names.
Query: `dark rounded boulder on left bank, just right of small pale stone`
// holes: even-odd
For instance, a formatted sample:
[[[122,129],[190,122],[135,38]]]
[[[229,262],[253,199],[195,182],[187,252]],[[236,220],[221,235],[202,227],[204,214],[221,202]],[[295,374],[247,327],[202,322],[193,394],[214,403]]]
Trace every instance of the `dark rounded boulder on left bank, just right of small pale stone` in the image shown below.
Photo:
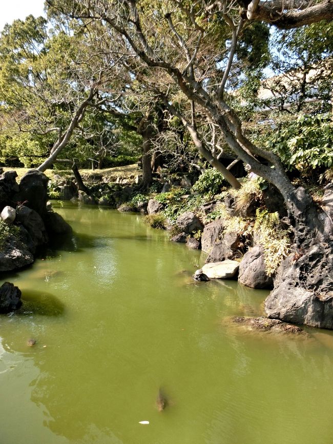
[[[16,221],[28,231],[36,247],[47,244],[47,231],[43,219],[36,211],[24,205],[19,206],[16,210]]]

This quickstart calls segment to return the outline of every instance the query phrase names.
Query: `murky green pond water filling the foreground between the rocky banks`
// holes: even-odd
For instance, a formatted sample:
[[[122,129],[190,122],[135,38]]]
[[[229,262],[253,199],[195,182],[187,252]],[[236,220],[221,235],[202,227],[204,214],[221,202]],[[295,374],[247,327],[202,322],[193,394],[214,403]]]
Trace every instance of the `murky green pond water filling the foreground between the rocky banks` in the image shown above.
[[[0,444],[333,442],[331,332],[234,326],[266,291],[195,282],[204,255],[139,215],[57,211],[72,239],[0,282],[24,301],[0,317]]]

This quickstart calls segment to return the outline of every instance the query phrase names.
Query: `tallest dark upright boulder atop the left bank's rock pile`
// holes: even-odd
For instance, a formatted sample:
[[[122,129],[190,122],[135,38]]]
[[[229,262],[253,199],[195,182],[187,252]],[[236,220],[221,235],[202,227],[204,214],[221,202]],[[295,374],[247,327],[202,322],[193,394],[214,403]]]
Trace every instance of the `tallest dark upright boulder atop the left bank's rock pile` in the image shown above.
[[[19,183],[19,192],[15,196],[17,202],[36,211],[41,217],[46,213],[48,201],[49,178],[40,171],[29,170]]]

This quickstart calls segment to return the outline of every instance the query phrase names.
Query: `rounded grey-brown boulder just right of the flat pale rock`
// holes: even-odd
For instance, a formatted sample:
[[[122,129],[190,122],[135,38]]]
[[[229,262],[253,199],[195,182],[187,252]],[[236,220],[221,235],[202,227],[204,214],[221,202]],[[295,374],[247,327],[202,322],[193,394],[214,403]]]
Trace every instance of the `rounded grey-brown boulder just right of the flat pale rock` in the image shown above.
[[[239,264],[238,281],[247,287],[273,288],[273,277],[266,273],[262,247],[253,247],[244,254]]]

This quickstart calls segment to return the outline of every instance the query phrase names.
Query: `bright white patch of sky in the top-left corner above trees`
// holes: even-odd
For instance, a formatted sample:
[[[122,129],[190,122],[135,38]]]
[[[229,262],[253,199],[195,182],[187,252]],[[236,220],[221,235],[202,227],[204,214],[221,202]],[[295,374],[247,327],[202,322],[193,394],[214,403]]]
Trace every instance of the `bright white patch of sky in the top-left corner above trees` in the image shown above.
[[[16,18],[24,20],[27,15],[43,15],[44,0],[0,0],[0,31],[6,23]]]

